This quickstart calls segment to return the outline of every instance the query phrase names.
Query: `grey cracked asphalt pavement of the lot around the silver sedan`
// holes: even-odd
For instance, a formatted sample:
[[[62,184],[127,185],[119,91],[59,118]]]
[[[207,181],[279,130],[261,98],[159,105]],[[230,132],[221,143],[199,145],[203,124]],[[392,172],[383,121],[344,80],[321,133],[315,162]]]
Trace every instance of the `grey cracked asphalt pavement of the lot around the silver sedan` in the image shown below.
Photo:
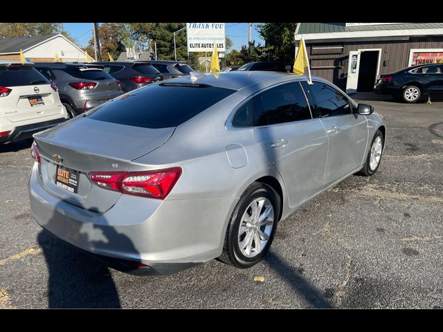
[[[30,216],[30,142],[0,146],[0,308],[443,308],[443,102],[354,99],[388,124],[377,174],[302,206],[246,270],[213,260],[136,277],[98,264]]]

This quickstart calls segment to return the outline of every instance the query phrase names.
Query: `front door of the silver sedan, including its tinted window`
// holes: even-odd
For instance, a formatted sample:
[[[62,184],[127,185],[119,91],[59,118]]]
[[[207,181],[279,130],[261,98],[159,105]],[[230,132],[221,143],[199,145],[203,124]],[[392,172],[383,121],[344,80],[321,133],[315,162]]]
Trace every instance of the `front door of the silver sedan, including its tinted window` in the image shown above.
[[[368,142],[368,122],[365,116],[354,113],[347,96],[330,84],[314,81],[311,85],[304,83],[303,87],[329,140],[327,187],[361,167]]]

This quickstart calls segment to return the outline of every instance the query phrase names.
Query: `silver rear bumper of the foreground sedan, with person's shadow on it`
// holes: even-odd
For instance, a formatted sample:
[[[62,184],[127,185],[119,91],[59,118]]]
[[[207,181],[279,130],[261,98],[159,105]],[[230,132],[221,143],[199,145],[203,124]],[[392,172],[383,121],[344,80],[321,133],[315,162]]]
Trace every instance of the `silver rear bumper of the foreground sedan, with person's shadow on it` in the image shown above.
[[[221,255],[235,199],[160,201],[123,194],[107,212],[91,212],[48,193],[38,167],[28,184],[35,221],[112,268],[170,274]]]

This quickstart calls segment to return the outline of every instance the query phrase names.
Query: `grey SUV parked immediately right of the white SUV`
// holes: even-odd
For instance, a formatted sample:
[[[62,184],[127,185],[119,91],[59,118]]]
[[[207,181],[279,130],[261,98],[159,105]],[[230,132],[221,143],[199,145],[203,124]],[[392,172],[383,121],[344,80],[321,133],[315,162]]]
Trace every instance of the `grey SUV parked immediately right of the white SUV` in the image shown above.
[[[98,64],[39,62],[34,68],[57,84],[69,118],[123,94],[120,82]]]

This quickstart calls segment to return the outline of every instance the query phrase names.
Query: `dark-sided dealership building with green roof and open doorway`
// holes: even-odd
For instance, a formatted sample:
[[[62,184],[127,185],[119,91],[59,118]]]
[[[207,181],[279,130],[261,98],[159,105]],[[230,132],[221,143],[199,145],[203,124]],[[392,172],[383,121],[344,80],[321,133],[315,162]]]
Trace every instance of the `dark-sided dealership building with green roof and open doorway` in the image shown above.
[[[443,23],[299,23],[311,74],[347,93],[370,92],[381,74],[443,63]]]

